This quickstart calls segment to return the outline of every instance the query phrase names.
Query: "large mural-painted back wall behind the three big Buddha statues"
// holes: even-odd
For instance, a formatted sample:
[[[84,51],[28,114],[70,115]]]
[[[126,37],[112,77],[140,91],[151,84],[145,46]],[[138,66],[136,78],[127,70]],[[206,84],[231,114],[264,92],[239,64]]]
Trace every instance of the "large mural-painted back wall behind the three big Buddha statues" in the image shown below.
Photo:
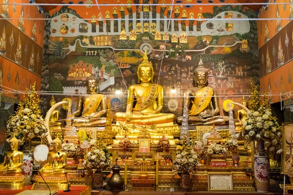
[[[143,2],[148,3],[148,0]],[[153,2],[162,3],[161,0]],[[85,78],[95,74],[100,80],[100,91],[109,96],[111,105],[122,105],[117,108],[125,111],[127,88],[137,83],[137,66],[142,61],[144,50],[147,50],[155,70],[154,82],[158,82],[160,75],[159,84],[167,97],[164,98],[164,112],[182,115],[182,98],[178,97],[193,87],[192,74],[200,57],[205,67],[209,68],[209,86],[220,94],[220,104],[232,95],[238,95],[238,98],[232,99],[240,102],[242,95],[250,92],[251,77],[259,84],[256,22],[207,21],[205,18],[256,18],[256,13],[243,6],[225,5],[233,0],[217,1],[223,3],[221,6],[180,5],[185,2],[176,1],[176,6],[172,8],[171,18],[180,20],[170,22],[166,46],[162,38],[167,31],[167,18],[170,17],[168,7],[153,5],[145,7],[145,10],[143,6],[120,7],[120,3],[127,3],[120,0],[117,6],[101,6],[101,13],[94,4],[88,4],[88,8],[60,6],[50,11],[47,16],[50,21],[46,22],[45,27],[42,90],[59,94],[71,92],[69,97],[73,99],[74,111],[77,97],[84,93]],[[132,0],[131,3],[142,2]],[[99,19],[100,14],[109,20],[91,20],[92,17]],[[203,20],[192,20],[192,16],[196,19],[203,17]],[[116,18],[121,20],[113,20]],[[132,20],[123,20],[128,18]],[[158,20],[160,18],[164,20]],[[249,48],[244,48],[243,39],[248,40]],[[163,49],[166,49],[164,56]],[[177,95],[170,97],[173,86]],[[122,89],[122,96],[118,98],[115,95],[117,88]],[[56,95],[55,99],[60,101],[64,97]],[[50,99],[51,96],[42,97],[43,113]]]

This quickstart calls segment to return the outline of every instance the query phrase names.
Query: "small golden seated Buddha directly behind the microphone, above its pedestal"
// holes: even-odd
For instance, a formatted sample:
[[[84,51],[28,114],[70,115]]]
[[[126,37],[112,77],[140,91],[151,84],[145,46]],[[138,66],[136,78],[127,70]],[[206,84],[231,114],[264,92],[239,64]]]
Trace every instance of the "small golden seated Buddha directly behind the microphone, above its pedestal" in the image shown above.
[[[47,163],[40,169],[42,176],[65,176],[63,166],[66,167],[67,154],[61,151],[61,145],[59,138],[53,140],[53,151],[48,153]]]

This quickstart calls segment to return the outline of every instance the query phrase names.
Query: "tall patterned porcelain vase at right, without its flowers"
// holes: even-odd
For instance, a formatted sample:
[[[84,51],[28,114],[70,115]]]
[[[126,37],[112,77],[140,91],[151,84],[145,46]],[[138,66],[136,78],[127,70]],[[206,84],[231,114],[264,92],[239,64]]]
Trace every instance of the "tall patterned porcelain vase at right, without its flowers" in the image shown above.
[[[270,185],[270,157],[265,152],[263,140],[257,141],[257,152],[254,155],[254,177],[256,191],[269,192]]]

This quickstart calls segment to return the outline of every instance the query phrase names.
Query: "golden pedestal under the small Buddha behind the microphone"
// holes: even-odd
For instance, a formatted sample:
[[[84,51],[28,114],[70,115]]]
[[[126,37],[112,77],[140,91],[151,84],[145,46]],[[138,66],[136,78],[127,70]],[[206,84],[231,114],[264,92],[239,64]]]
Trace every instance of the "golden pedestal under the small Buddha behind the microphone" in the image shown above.
[[[70,183],[67,187],[67,180],[65,176],[43,176],[43,178],[47,182],[51,190],[66,190],[67,188],[70,188]],[[36,183],[33,184],[32,189],[48,189],[41,176],[36,176],[35,181]]]

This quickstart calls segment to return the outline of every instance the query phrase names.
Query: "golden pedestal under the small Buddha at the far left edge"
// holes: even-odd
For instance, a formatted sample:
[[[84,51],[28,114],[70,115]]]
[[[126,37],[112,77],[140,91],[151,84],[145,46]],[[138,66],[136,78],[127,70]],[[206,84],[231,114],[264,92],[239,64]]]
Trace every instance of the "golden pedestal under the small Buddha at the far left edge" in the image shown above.
[[[23,175],[0,175],[0,189],[21,190],[24,188]]]

